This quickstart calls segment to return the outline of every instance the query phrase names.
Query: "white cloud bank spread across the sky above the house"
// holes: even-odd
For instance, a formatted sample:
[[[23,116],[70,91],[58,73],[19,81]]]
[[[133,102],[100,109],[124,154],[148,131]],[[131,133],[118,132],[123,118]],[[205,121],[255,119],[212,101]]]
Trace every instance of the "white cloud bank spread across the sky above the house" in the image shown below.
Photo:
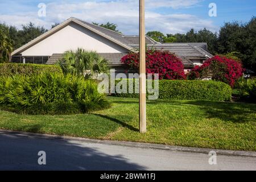
[[[146,29],[158,30],[164,33],[186,32],[190,28],[199,30],[209,28],[216,30],[213,22],[189,14],[161,14],[156,13],[156,8],[171,7],[173,9],[196,6],[202,0],[146,0]],[[36,11],[1,15],[0,22],[21,24],[36,23],[47,28],[54,22],[63,22],[71,16],[85,20],[86,22],[113,22],[118,24],[118,29],[124,34],[138,34],[138,1],[88,1],[80,3],[61,3],[61,1],[47,4],[47,16],[39,18]]]

